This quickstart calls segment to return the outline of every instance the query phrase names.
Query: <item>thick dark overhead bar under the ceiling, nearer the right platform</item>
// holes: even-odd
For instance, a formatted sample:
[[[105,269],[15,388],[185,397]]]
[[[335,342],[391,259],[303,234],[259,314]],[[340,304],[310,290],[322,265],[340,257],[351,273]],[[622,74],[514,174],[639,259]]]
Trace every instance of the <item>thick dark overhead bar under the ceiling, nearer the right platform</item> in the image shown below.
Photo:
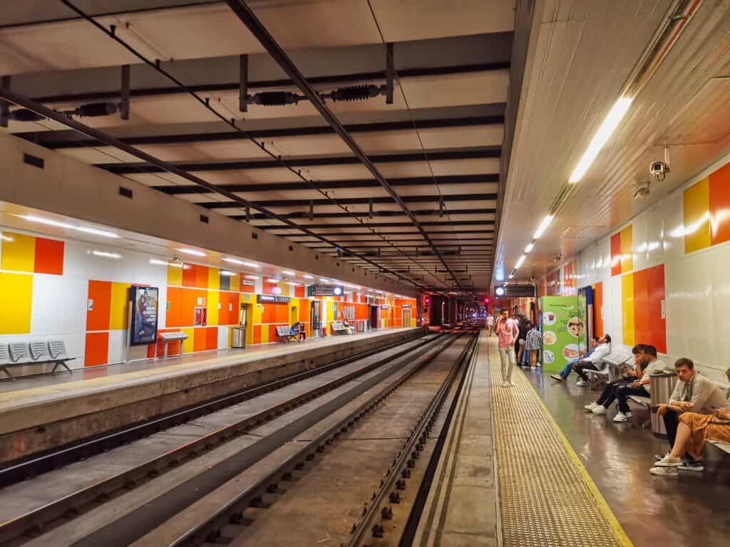
[[[334,132],[339,135],[342,141],[344,141],[345,144],[347,144],[347,147],[353,151],[353,154],[356,155],[356,157],[361,161],[365,168],[370,171],[370,173],[372,174],[372,176],[374,176],[377,182],[380,182],[380,185],[385,189],[388,195],[393,198],[393,201],[398,204],[398,206],[403,210],[406,216],[413,223],[415,228],[418,229],[420,235],[423,236],[426,242],[431,245],[431,248],[434,249],[434,253],[437,255],[437,257],[439,257],[441,263],[444,265],[444,268],[446,268],[447,272],[453,279],[453,282],[456,283],[456,286],[460,287],[458,279],[450,270],[446,261],[441,256],[439,250],[434,246],[431,238],[429,237],[429,234],[426,232],[426,230],[423,229],[423,226],[420,225],[420,222],[418,222],[415,214],[413,214],[411,210],[408,209],[406,203],[404,203],[398,193],[393,190],[393,187],[388,184],[385,176],[380,173],[378,168],[375,166],[372,160],[370,160],[365,151],[362,150],[360,145],[355,139],[353,139],[353,136],[350,135],[347,129],[345,129],[345,126],[342,125],[337,116],[335,116],[334,113],[325,104],[315,88],[312,88],[310,82],[307,82],[304,74],[301,74],[299,69],[296,68],[296,65],[294,65],[293,61],[291,61],[289,56],[279,45],[279,43],[274,39],[274,37],[269,34],[269,31],[266,30],[266,27],[264,27],[264,24],[261,23],[261,20],[259,20],[253,13],[253,10],[250,9],[250,7],[248,7],[246,2],[243,0],[226,0],[226,3],[228,4],[228,7],[231,8],[231,11],[233,11],[241,20],[241,22],[246,26],[246,28],[248,28],[250,33],[253,34],[256,39],[258,39],[258,42],[260,42],[262,46],[264,46],[264,49],[269,53],[269,55],[271,55],[274,61],[276,61],[281,69],[285,71],[287,76],[292,80],[292,82],[294,82],[296,87],[301,90],[301,93],[304,93],[304,96],[306,96],[310,100],[312,106],[317,109],[317,111],[324,118],[324,120],[330,125],[332,129],[334,129]]]

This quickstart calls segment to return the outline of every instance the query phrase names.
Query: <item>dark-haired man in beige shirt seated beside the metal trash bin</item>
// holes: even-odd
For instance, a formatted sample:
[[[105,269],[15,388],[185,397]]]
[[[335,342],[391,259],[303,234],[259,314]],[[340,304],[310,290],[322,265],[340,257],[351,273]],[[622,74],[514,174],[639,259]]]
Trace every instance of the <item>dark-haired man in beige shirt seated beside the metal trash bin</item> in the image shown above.
[[[715,382],[699,376],[694,370],[694,362],[681,357],[675,362],[677,384],[669,403],[659,405],[656,414],[663,416],[666,438],[669,446],[674,447],[677,440],[680,414],[692,411],[696,414],[713,414],[719,408],[727,408],[728,401]]]

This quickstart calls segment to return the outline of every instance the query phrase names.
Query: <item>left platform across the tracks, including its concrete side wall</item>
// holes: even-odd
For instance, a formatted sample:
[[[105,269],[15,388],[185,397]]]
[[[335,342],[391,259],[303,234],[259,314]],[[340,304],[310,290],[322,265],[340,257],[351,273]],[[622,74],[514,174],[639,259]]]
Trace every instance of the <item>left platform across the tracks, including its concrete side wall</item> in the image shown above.
[[[420,333],[419,328],[372,330],[0,382],[0,462],[312,370]]]

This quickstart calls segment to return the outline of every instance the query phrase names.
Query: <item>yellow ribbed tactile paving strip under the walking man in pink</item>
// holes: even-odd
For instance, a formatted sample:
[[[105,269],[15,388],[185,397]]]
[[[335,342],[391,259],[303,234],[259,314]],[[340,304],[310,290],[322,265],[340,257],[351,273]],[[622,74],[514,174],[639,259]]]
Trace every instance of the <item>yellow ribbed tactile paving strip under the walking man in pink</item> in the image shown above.
[[[500,387],[496,338],[489,360],[504,547],[631,546],[525,376]]]

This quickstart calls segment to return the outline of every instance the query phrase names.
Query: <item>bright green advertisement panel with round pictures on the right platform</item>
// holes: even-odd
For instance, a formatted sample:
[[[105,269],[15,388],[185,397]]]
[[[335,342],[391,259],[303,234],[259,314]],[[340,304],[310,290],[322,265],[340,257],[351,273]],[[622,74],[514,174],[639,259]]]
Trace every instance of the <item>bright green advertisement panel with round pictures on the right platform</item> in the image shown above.
[[[557,372],[585,352],[585,311],[575,296],[542,298],[542,368]]]

